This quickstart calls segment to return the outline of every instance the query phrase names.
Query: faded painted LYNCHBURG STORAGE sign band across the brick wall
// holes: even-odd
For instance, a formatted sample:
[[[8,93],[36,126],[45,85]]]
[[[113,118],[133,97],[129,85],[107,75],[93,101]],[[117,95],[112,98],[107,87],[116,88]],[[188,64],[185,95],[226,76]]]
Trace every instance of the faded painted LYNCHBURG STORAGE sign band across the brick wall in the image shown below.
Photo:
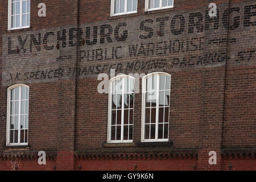
[[[128,71],[131,65],[129,71],[138,71],[144,69],[143,61],[159,62],[174,70],[221,65],[226,59],[226,49],[218,45],[232,46],[243,41],[236,36],[228,38],[228,26],[230,31],[255,26],[252,17],[256,5],[231,7],[230,25],[229,9],[226,5],[218,7],[214,17],[209,16],[208,10],[198,10],[86,23],[79,28],[65,26],[6,34],[2,52],[3,83],[15,81],[14,78],[43,81],[68,77],[75,72],[73,68],[59,65],[76,56],[80,61],[80,76],[113,68]]]

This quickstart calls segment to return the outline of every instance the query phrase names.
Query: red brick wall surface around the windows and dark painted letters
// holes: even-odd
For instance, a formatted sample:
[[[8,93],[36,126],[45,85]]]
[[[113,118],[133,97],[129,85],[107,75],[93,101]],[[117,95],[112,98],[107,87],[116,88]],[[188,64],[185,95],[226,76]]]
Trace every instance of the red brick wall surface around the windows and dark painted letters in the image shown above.
[[[229,170],[232,163],[232,170],[255,169],[255,147],[256,147],[256,69],[255,69],[255,23],[248,27],[244,26],[244,9],[247,5],[256,6],[255,1],[223,0],[214,1],[220,9],[220,26],[218,30],[205,30],[205,10],[212,1],[174,1],[174,9],[166,9],[154,12],[144,11],[144,1],[138,0],[136,15],[123,15],[110,17],[110,1],[50,1],[46,0],[47,16],[38,17],[38,4],[41,1],[31,2],[31,28],[26,30],[7,31],[7,1],[0,2],[0,169],[11,170],[18,166],[18,170],[133,170],[137,164],[138,170],[197,170],[217,169]],[[229,4],[230,3],[230,4]],[[230,24],[238,16],[240,24],[235,30],[226,30],[223,27],[222,17],[228,7],[240,7],[239,13],[232,13]],[[255,9],[251,9],[255,12]],[[79,12],[79,16],[77,16]],[[203,14],[203,31],[188,34],[188,16],[191,13],[200,12]],[[170,33],[170,23],[173,16],[182,14],[185,17],[185,30],[181,35]],[[157,35],[159,23],[156,18],[168,16],[166,22],[166,37]],[[254,16],[255,17],[255,16]],[[138,38],[139,23],[143,19],[153,19],[152,25],[154,36],[148,41]],[[255,18],[250,19],[255,22]],[[95,46],[70,46],[67,39],[67,48],[57,48],[57,41],[49,38],[49,45],[53,45],[53,51],[46,51],[41,45],[41,52],[22,52],[15,55],[6,55],[7,36],[18,36],[26,34],[42,36],[47,31],[62,31],[64,28],[91,27],[102,24],[111,24],[113,28],[117,23],[130,23],[125,30],[129,30],[129,37],[126,42],[116,42],[112,35],[113,43],[100,44]],[[45,30],[45,31],[44,31]],[[91,30],[92,31],[92,30]],[[169,31],[169,32],[168,32]],[[144,32],[143,32],[144,33]],[[69,32],[67,33],[67,37]],[[84,34],[82,36],[84,36]],[[92,32],[91,32],[92,34]],[[127,46],[128,44],[139,45],[148,42],[160,42],[163,40],[181,40],[204,37],[202,44],[204,50],[197,47],[196,51],[174,50],[166,55],[149,55],[131,57],[128,53],[120,53],[122,59],[110,59],[101,61],[79,60],[79,51],[92,50],[97,48],[112,48],[116,46]],[[225,39],[222,43],[210,44],[212,39]],[[43,38],[42,38],[43,39]],[[137,41],[138,39],[138,41]],[[236,39],[230,42],[229,39]],[[92,39],[91,39],[92,40]],[[227,41],[228,40],[228,41]],[[192,40],[191,40],[192,41]],[[74,42],[76,42],[74,40]],[[100,42],[100,33],[98,33]],[[135,42],[135,43],[134,43]],[[186,42],[185,42],[186,43]],[[198,41],[196,42],[198,43]],[[207,44],[208,43],[208,44]],[[127,44],[127,45],[126,45]],[[26,44],[29,47],[29,43]],[[48,46],[49,46],[48,45]],[[14,48],[14,47],[13,47]],[[192,48],[195,48],[192,46]],[[28,48],[29,49],[29,48]],[[175,48],[174,48],[175,49]],[[214,63],[201,63],[200,56],[217,53]],[[55,61],[58,56],[71,55],[72,59]],[[7,57],[7,58],[6,58]],[[27,67],[15,67],[15,61],[29,59]],[[193,58],[192,58],[193,57]],[[207,57],[207,56],[205,56]],[[225,62],[227,58],[227,61]],[[169,139],[173,142],[168,147],[109,147],[104,148],[102,143],[107,141],[108,136],[108,94],[97,92],[97,73],[86,76],[79,75],[76,69],[93,67],[96,65],[123,64],[138,61],[144,63],[148,60],[166,59],[167,64],[163,68],[150,68],[150,65],[143,65],[138,69],[129,71],[126,68],[115,70],[116,73],[150,73],[162,71],[171,75],[171,99],[170,99],[170,126]],[[175,62],[179,60],[179,63]],[[189,62],[189,59],[195,61]],[[182,62],[182,61],[187,62]],[[12,64],[8,64],[10,63]],[[47,61],[44,63],[43,61]],[[205,61],[211,61],[210,57]],[[7,63],[8,62],[8,63]],[[42,63],[43,62],[43,63]],[[156,61],[157,62],[157,61]],[[159,63],[162,61],[159,61]],[[146,63],[146,62],[145,62]],[[7,66],[6,66],[7,65]],[[18,64],[19,65],[19,64]],[[10,67],[6,70],[6,67]],[[5,73],[18,69],[20,72],[36,72],[47,69],[65,69],[65,76],[46,80],[15,80],[7,82]],[[68,74],[69,68],[75,72]],[[101,71],[104,72],[104,71]],[[105,71],[109,75],[109,70]],[[77,73],[77,74],[76,74]],[[100,72],[99,72],[100,73]],[[23,83],[30,86],[30,107],[29,107],[29,134],[30,148],[21,150],[20,155],[27,155],[28,158],[36,156],[38,151],[46,151],[56,155],[56,159],[47,160],[46,166],[39,166],[36,159],[21,160],[16,153],[9,148],[3,147],[6,144],[6,105],[7,88],[13,84]],[[140,82],[140,90],[141,90]],[[141,104],[142,95],[135,94],[134,105],[134,142],[141,141]],[[1,117],[5,114],[5,117]],[[180,151],[183,152],[180,152]],[[217,151],[217,165],[210,166],[208,163],[209,151]],[[144,154],[155,152],[156,154],[189,155],[196,154],[193,159],[94,159],[79,160],[75,153],[82,155],[109,155],[123,152]],[[8,159],[7,156],[15,155]],[[19,152],[18,152],[19,155]],[[227,158],[224,156],[228,155]],[[241,158],[241,155],[249,157]],[[232,156],[232,157],[230,157]],[[230,159],[229,159],[230,158]]]

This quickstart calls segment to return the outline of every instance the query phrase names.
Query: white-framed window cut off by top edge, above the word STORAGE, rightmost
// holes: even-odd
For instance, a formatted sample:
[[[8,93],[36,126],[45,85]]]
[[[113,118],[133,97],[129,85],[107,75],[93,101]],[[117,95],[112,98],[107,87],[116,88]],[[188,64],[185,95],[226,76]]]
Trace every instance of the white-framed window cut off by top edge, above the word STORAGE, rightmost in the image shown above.
[[[174,0],[146,0],[145,11],[160,10],[174,7]]]

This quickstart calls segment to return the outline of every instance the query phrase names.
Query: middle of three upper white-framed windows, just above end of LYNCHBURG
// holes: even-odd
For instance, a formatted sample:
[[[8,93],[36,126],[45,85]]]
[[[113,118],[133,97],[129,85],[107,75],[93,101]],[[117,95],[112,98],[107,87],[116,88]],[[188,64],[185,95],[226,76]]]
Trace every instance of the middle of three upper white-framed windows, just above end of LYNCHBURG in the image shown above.
[[[138,0],[111,0],[111,15],[137,13]]]

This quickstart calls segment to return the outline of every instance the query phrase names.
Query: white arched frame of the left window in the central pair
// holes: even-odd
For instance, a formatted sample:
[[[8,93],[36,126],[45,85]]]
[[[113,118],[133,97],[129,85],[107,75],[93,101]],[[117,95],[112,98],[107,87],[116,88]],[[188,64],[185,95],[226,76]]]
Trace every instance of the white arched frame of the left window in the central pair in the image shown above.
[[[115,76],[113,78],[111,78],[109,80],[109,104],[108,104],[108,143],[132,143],[133,140],[123,140],[123,122],[124,122],[124,90],[125,90],[125,85],[124,85],[124,80],[122,81],[122,121],[121,121],[121,140],[111,140],[111,122],[112,122],[112,82],[115,80],[118,80],[119,78],[131,78],[133,79],[133,83],[135,86],[135,78],[129,75],[119,75],[119,76]],[[135,98],[135,90],[134,90],[134,98]],[[133,119],[134,119],[134,98],[133,98]],[[128,121],[129,122],[129,121]],[[134,131],[134,122],[133,122],[133,131]]]

